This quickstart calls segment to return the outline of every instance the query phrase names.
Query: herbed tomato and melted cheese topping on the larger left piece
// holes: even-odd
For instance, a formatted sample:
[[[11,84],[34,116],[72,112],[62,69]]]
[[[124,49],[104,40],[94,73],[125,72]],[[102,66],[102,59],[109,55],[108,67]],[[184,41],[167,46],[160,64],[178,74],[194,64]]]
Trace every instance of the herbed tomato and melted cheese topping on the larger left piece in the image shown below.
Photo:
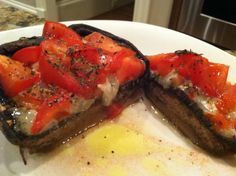
[[[19,106],[12,114],[26,134],[39,134],[98,99],[111,105],[120,85],[144,73],[134,51],[98,32],[82,38],[48,21],[43,37],[39,46],[18,50],[12,59],[0,56],[0,85]]]

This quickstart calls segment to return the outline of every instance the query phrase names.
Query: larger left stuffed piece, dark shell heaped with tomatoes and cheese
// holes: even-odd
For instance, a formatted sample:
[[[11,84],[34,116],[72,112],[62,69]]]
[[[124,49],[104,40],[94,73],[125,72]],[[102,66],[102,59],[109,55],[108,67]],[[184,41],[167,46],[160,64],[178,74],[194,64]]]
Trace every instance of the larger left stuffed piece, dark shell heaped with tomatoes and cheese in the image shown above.
[[[117,116],[137,99],[147,70],[131,43],[87,25],[48,21],[42,37],[4,44],[0,53],[2,131],[30,152]]]

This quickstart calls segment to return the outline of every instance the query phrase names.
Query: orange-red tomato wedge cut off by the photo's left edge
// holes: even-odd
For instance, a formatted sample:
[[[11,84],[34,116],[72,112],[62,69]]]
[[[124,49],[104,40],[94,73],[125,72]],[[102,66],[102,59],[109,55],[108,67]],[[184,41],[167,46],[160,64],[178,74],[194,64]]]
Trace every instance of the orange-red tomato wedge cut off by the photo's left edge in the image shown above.
[[[0,56],[0,84],[7,96],[14,97],[39,80],[39,74],[23,63]]]

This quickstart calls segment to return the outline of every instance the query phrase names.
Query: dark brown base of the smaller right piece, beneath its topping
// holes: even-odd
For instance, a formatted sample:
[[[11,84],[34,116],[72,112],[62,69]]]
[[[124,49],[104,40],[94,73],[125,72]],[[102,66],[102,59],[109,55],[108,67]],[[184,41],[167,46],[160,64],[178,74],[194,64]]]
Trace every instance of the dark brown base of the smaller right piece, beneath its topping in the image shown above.
[[[182,90],[164,88],[158,82],[158,76],[152,72],[149,81],[145,82],[144,92],[170,124],[193,144],[215,156],[236,152],[236,139],[228,139],[217,133],[199,106]]]

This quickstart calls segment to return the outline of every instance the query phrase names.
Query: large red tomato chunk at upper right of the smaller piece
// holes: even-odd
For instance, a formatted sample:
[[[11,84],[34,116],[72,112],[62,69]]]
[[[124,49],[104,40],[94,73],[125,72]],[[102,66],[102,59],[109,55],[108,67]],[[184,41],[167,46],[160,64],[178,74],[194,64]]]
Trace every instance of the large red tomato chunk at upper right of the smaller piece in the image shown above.
[[[210,96],[219,96],[226,84],[228,66],[209,62],[194,54],[180,56],[183,61],[178,72]]]

